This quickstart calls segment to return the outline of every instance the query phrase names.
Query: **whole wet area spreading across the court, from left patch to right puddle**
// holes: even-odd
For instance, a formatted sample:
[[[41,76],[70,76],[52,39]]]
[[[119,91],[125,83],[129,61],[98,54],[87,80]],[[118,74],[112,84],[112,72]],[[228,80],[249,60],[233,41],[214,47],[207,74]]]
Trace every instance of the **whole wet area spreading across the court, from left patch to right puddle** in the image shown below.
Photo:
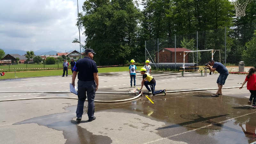
[[[99,97],[103,99],[104,95]],[[206,92],[172,93],[166,96],[149,95],[148,97],[154,104],[142,96],[128,102],[95,103],[95,112],[128,111],[164,122],[166,125],[156,129],[159,136],[187,143],[220,143],[223,141],[224,143],[252,143],[256,141],[256,111],[247,105],[247,98],[225,95],[211,97],[211,93]],[[108,100],[112,99],[120,99],[120,97],[108,96]],[[88,103],[85,102],[84,117],[87,117],[87,105]],[[66,143],[112,142],[107,136],[93,135],[92,132],[72,120],[76,115],[76,106],[67,107],[65,110],[69,112],[31,118],[16,124],[36,123],[63,131],[64,138],[67,139]],[[237,118],[232,119],[234,117]],[[87,121],[81,121],[81,123],[87,123]],[[181,134],[180,137],[176,136],[182,132],[188,133]],[[236,139],[234,137],[230,139],[230,133],[232,137],[235,135]]]

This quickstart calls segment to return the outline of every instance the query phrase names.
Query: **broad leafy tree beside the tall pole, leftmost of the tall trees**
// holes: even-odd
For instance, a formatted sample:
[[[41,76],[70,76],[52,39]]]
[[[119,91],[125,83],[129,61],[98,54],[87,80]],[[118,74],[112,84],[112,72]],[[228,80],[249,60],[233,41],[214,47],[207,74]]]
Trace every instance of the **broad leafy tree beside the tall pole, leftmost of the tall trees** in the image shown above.
[[[90,0],[84,2],[83,10],[86,48],[95,50],[94,60],[100,65],[124,62],[135,48],[140,19],[133,1]]]

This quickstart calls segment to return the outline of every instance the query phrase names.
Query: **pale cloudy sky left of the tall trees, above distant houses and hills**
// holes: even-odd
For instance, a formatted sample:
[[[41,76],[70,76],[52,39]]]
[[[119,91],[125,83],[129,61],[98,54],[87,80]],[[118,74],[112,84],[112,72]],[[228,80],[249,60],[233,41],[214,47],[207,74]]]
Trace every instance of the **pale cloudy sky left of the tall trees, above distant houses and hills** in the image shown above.
[[[83,2],[78,0],[79,12]],[[0,13],[0,49],[80,51],[72,43],[79,39],[77,0],[4,0]]]

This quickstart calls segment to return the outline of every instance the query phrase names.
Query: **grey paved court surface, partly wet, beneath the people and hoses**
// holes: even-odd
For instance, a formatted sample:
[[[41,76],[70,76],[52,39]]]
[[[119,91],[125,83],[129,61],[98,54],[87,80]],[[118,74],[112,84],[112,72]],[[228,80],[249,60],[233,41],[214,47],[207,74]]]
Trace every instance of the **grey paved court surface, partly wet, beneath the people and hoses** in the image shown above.
[[[208,73],[209,74],[209,73]],[[247,105],[244,87],[217,90],[219,74],[153,73],[156,90],[206,89],[197,92],[145,95],[119,103],[95,103],[96,120],[88,122],[87,101],[81,122],[76,122],[77,100],[39,99],[0,102],[0,143],[253,143],[256,141],[256,109]],[[241,86],[246,75],[230,74],[223,87]],[[98,92],[129,92],[129,72],[99,74]],[[142,76],[137,73],[140,88]],[[76,97],[69,91],[71,76],[1,80],[0,100],[36,97]],[[76,79],[77,83],[77,79]],[[246,84],[245,84],[246,85]],[[19,93],[28,91],[28,93]],[[145,91],[145,87],[144,87]],[[122,100],[133,94],[97,94],[95,100]]]

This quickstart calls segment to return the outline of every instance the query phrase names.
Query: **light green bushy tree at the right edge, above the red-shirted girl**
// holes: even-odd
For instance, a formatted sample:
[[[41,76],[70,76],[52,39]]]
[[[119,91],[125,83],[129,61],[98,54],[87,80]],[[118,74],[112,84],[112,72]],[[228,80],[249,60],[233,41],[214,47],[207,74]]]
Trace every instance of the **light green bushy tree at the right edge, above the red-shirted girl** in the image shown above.
[[[244,60],[244,64],[246,66],[254,66],[256,63],[256,30],[254,31],[254,36],[252,37],[252,40],[247,42],[246,44],[246,50],[244,50],[242,58]]]

